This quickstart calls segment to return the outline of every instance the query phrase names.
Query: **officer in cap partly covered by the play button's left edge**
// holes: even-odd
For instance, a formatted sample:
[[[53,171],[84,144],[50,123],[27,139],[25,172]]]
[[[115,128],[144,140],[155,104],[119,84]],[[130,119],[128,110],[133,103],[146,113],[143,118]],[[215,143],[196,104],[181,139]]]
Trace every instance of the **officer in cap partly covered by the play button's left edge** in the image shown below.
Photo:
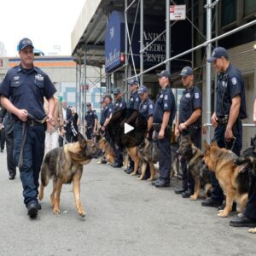
[[[113,113],[118,114],[117,112],[121,109],[126,108],[126,102],[122,97],[122,93],[118,88],[113,90],[113,96],[115,98],[115,103],[113,105]],[[115,116],[115,119],[118,119],[119,116]],[[112,117],[113,119],[113,117]],[[113,122],[114,123],[114,122]],[[119,125],[119,124],[118,124]],[[123,147],[114,143],[114,153],[115,153],[115,163],[113,164],[114,168],[119,168],[123,166]]]

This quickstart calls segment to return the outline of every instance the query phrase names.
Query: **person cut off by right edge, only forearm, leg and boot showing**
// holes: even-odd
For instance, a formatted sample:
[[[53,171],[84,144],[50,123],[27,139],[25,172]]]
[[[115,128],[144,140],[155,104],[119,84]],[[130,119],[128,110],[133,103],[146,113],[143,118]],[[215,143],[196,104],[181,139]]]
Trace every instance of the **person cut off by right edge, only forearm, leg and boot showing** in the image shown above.
[[[256,98],[253,107],[253,123],[256,125]],[[256,137],[256,134],[255,134]],[[245,211],[237,218],[230,220],[230,226],[233,227],[256,227],[256,170],[254,167],[254,174],[250,177],[250,187],[248,193],[248,201]]]

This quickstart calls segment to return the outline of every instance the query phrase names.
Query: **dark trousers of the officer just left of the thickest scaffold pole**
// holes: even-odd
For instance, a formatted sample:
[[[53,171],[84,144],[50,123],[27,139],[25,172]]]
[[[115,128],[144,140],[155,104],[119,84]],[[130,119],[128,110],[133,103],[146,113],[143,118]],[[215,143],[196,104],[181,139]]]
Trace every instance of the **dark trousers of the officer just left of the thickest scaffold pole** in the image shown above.
[[[201,129],[187,129],[183,131],[183,136],[189,136],[194,143],[195,147],[201,148]],[[183,189],[190,189],[194,193],[195,181],[191,175],[191,172],[187,168],[187,161],[183,157],[180,160],[182,172],[183,172]]]

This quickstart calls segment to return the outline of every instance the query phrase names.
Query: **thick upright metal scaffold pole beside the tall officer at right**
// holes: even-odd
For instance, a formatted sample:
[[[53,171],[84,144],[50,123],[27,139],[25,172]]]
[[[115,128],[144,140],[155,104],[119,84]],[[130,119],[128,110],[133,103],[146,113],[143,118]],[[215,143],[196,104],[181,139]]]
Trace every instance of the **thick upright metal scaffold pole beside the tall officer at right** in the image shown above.
[[[207,41],[212,39],[212,0],[207,0]],[[207,59],[211,57],[212,43],[207,44]],[[207,123],[211,123],[212,116],[212,73],[211,63],[207,62]],[[211,130],[207,129],[207,142],[211,141]]]

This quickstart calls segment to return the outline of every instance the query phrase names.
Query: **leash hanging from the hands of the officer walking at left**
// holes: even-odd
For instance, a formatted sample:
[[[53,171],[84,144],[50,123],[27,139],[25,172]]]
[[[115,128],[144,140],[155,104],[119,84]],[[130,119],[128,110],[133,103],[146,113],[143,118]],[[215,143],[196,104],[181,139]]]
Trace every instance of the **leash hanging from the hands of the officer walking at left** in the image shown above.
[[[23,165],[23,151],[24,151],[24,145],[26,142],[26,125],[33,126],[35,122],[39,124],[44,124],[46,120],[48,119],[48,116],[46,115],[44,119],[36,119],[31,113],[27,113],[27,120],[26,122],[22,122],[22,131],[21,131],[21,143],[20,143],[20,157],[18,161],[18,167],[20,168]]]

